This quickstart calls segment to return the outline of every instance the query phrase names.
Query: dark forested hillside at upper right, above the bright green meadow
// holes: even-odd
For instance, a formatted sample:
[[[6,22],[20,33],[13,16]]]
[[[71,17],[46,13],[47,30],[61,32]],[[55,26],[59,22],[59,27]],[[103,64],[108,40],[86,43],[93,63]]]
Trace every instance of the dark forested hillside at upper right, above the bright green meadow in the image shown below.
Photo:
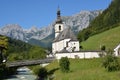
[[[88,28],[78,34],[79,41],[85,41],[90,36],[104,32],[120,25],[120,0],[113,0],[109,7],[96,17]]]

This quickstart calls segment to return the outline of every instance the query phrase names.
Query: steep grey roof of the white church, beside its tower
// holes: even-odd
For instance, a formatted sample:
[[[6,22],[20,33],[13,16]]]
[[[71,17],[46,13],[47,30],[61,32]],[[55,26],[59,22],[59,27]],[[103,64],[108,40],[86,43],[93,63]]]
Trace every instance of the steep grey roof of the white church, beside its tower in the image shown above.
[[[53,42],[58,42],[64,39],[70,39],[70,41],[78,41],[74,33],[71,31],[70,28],[64,29],[55,39]]]

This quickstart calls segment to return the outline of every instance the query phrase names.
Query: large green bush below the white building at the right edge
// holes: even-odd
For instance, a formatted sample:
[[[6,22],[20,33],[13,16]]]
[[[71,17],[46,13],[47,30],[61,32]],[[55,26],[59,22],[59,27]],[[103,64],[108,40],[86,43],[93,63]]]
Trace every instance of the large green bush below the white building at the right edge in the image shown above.
[[[111,52],[109,52],[105,60],[103,62],[103,66],[108,70],[108,71],[118,71],[120,70],[120,64],[118,61],[118,58],[115,57]]]

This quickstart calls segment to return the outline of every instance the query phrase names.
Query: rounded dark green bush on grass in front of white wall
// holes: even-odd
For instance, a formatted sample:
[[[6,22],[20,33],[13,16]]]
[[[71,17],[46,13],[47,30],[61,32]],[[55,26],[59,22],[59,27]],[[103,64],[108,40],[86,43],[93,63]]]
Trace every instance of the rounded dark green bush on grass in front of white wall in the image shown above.
[[[67,57],[61,58],[59,65],[60,65],[60,69],[62,72],[68,72],[70,70],[70,68],[69,68],[70,62]]]

